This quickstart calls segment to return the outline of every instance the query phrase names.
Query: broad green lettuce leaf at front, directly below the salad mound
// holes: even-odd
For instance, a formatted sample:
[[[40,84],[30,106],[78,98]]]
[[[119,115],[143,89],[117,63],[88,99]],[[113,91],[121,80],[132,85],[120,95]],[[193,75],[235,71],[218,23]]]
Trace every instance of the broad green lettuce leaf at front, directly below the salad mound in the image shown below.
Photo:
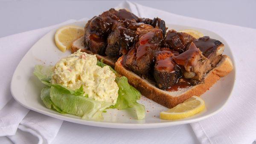
[[[81,116],[82,119],[102,120],[102,111],[112,103],[95,101],[84,96],[76,96],[55,87],[50,88],[50,99],[56,107],[72,115]]]

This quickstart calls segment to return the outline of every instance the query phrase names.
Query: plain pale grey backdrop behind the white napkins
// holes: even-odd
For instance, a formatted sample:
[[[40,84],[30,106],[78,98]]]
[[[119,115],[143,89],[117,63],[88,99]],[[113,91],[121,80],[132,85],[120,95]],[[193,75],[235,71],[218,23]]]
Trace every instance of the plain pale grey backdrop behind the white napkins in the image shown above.
[[[69,19],[93,17],[122,1],[0,1],[0,37],[38,29]],[[137,1],[145,6],[205,20],[256,29],[256,0]]]

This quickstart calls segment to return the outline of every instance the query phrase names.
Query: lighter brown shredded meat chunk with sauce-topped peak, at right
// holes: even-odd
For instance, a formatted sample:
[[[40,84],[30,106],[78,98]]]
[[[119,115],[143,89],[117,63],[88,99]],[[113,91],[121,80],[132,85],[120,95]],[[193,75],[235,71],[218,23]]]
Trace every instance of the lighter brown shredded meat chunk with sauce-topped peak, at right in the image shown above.
[[[175,62],[184,68],[184,78],[202,81],[209,66],[209,60],[202,55],[192,42],[189,48],[180,55],[173,58]]]

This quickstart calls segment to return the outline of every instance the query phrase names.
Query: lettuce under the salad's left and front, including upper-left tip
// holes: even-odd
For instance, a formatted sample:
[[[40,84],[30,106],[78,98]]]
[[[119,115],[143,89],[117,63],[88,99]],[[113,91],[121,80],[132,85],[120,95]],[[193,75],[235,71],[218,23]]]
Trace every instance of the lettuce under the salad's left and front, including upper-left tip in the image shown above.
[[[81,116],[82,119],[102,120],[102,111],[110,107],[112,103],[95,101],[83,96],[83,86],[71,90],[60,84],[51,84],[52,66],[36,65],[34,75],[47,87],[41,90],[41,100],[47,108],[65,114]]]

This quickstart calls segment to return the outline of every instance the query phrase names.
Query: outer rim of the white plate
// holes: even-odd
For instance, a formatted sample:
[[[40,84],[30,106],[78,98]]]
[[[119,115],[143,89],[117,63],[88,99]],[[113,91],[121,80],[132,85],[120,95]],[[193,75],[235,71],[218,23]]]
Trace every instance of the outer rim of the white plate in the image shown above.
[[[82,23],[82,22],[86,22],[86,21],[87,20],[76,21],[74,23],[68,23],[68,24],[64,24],[64,25],[61,25],[61,26],[67,26],[67,25]],[[198,27],[192,27],[192,26],[186,26],[186,25],[177,25],[177,24],[171,24],[171,23],[166,23],[166,25],[173,25],[173,26],[175,25],[175,26],[184,26],[184,27],[195,28],[195,29],[202,29],[202,28],[198,28]],[[59,26],[59,27],[61,27],[61,26]],[[56,27],[56,28],[50,30],[49,32],[47,32],[47,34],[49,34],[50,32],[58,29],[59,27]],[[202,29],[202,30],[212,32],[212,31],[207,30],[207,29]],[[220,35],[218,35],[215,32],[212,32],[212,33],[214,33],[218,37],[221,37]],[[47,34],[45,34],[45,35],[47,35]],[[41,40],[43,37],[45,37],[45,35],[42,36],[39,40]],[[225,45],[227,45],[230,48],[227,41],[223,37],[221,37],[221,38],[223,40],[223,43],[225,43]],[[35,44],[38,41],[36,41]],[[32,47],[34,47],[35,44]],[[28,53],[31,51],[32,47],[26,52],[26,54],[23,56],[23,58],[18,63],[17,67],[20,65],[20,63],[23,61],[23,59],[26,57],[26,55],[28,55]],[[233,52],[232,52],[231,48],[230,48],[230,54],[233,58]],[[212,113],[209,113],[208,115],[204,115],[204,116],[201,116],[201,117],[198,117],[198,118],[187,119],[187,120],[185,119],[185,120],[182,120],[182,121],[176,120],[176,121],[166,121],[166,122],[156,122],[156,123],[117,123],[117,122],[104,122],[104,121],[89,121],[89,120],[82,120],[82,119],[78,119],[78,118],[72,118],[72,117],[68,117],[68,116],[65,116],[65,115],[57,115],[57,114],[52,113],[52,112],[47,112],[47,111],[37,109],[37,108],[34,108],[34,107],[29,107],[26,104],[21,103],[17,99],[17,97],[14,95],[14,92],[13,92],[14,89],[15,89],[14,86],[13,86],[14,85],[13,83],[15,81],[14,76],[17,73],[17,67],[15,68],[15,71],[12,75],[12,80],[11,80],[11,84],[10,84],[11,89],[10,90],[11,90],[12,97],[15,99],[15,101],[17,101],[23,107],[26,107],[27,109],[31,109],[35,112],[39,112],[39,113],[44,114],[44,115],[48,115],[52,118],[61,119],[63,121],[69,121],[69,122],[73,122],[73,123],[77,123],[77,124],[90,125],[90,126],[96,126],[96,127],[121,128],[121,129],[147,129],[147,128],[157,128],[157,127],[170,127],[170,126],[179,125],[179,124],[189,124],[189,123],[201,121],[203,119],[211,117],[212,115],[217,114],[218,112],[220,112],[226,106],[227,102],[230,100],[230,98],[233,94],[234,85],[236,84],[236,62],[235,62],[234,58],[232,59],[232,62],[233,62],[234,80],[233,80],[233,83],[232,83],[232,88],[231,88],[230,94],[228,95],[228,98],[224,102],[224,104],[220,108],[218,108],[217,110],[213,111]]]

